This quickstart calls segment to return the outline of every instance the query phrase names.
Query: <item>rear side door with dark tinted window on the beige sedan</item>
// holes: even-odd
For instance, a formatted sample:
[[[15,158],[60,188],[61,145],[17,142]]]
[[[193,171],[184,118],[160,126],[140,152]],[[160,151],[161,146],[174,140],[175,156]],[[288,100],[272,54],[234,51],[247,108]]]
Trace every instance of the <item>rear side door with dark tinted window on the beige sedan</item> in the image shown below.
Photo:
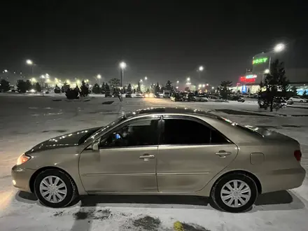
[[[196,192],[237,156],[237,146],[203,120],[164,117],[158,146],[159,192]]]

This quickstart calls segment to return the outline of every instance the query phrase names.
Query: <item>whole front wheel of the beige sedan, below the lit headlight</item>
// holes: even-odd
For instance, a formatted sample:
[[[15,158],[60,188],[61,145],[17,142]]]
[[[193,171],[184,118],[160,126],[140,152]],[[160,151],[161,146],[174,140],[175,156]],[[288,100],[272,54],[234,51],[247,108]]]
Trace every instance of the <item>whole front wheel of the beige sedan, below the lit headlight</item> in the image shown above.
[[[52,208],[65,207],[77,196],[73,179],[57,169],[48,169],[36,177],[34,193],[45,206]]]

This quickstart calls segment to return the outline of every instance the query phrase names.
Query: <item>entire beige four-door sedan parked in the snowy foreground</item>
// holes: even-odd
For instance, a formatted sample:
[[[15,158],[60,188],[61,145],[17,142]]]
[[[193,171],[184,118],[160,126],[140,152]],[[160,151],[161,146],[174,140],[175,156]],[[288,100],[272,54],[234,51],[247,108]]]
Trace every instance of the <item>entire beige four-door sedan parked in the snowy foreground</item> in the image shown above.
[[[260,193],[301,186],[300,158],[300,144],[278,132],[156,108],[43,141],[20,155],[12,176],[49,207],[78,195],[198,195],[241,212]]]

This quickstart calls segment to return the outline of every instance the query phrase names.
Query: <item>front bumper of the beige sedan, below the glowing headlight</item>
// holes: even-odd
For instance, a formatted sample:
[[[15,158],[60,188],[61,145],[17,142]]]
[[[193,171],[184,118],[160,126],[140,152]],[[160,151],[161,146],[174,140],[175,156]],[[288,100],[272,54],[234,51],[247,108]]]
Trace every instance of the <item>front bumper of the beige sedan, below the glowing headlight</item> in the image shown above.
[[[36,170],[34,169],[26,169],[15,165],[12,168],[11,174],[13,178],[13,186],[19,188],[22,191],[31,193],[30,189],[30,179]]]

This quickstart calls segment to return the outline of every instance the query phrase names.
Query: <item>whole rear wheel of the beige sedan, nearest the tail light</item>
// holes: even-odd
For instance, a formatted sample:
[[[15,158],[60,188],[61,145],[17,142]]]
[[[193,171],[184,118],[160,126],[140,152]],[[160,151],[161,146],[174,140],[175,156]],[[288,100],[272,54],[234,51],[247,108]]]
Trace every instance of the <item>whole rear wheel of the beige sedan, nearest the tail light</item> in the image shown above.
[[[251,209],[258,190],[253,179],[246,174],[228,174],[215,183],[211,197],[223,211],[240,213]]]

